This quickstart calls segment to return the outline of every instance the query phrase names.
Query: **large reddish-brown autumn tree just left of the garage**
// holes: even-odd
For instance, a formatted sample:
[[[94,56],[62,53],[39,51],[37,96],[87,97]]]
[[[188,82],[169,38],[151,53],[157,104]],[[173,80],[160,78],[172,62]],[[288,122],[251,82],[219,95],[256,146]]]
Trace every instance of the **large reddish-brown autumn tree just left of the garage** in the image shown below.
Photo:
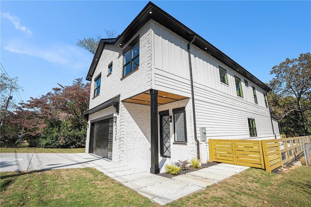
[[[15,114],[31,146],[47,148],[83,147],[87,122],[90,84],[76,79],[71,86],[52,88],[40,98],[21,104]],[[15,124],[17,124],[15,123]]]

